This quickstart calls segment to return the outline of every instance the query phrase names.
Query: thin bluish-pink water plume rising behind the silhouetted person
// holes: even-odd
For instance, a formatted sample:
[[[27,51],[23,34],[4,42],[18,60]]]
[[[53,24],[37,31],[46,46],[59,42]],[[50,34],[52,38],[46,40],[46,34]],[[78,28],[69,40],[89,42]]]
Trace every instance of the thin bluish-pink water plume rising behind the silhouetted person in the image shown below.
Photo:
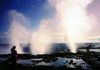
[[[9,41],[11,46],[16,46],[18,53],[23,53],[23,47],[21,44],[28,44],[28,31],[24,24],[27,19],[15,10],[11,10],[8,13],[10,18],[9,28]]]

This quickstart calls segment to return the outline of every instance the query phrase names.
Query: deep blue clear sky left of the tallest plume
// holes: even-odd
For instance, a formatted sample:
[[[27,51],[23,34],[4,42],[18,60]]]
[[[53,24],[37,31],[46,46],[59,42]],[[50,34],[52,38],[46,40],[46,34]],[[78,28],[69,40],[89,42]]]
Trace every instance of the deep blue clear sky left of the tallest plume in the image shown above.
[[[10,27],[9,11],[16,11],[27,17],[29,29],[36,29],[39,22],[51,18],[53,13],[47,9],[46,0],[0,0],[0,43],[7,41],[6,34]]]

